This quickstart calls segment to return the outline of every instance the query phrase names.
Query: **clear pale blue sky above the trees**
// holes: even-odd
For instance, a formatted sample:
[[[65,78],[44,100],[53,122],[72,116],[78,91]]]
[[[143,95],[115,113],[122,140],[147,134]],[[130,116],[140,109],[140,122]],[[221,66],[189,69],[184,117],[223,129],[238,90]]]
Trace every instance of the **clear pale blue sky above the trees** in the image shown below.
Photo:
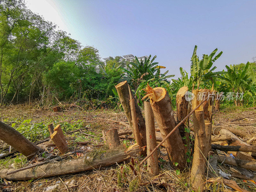
[[[26,0],[33,12],[56,23],[82,45],[93,45],[101,58],[157,55],[169,75],[189,72],[197,45],[199,58],[215,48],[214,63],[252,62],[256,56],[256,1]]]

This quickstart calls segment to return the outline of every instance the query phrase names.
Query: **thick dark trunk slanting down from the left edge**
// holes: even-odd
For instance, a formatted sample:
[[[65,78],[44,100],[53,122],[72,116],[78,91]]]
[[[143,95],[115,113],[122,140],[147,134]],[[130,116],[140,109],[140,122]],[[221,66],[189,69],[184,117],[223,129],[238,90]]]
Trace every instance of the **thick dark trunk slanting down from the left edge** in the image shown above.
[[[28,159],[34,158],[38,152],[43,152],[35,143],[29,141],[20,132],[0,121],[0,139],[11,145]]]

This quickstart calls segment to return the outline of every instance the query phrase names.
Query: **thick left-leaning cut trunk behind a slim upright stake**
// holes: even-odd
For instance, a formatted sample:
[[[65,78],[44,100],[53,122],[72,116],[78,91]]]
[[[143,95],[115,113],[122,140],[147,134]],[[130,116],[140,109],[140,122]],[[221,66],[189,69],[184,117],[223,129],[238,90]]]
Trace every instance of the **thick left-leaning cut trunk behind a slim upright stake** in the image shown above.
[[[120,102],[123,106],[124,113],[128,119],[130,127],[133,127],[132,124],[132,114],[131,114],[131,108],[130,108],[130,95],[129,95],[129,87],[127,81],[121,82],[118,85],[115,86],[116,91],[118,93]],[[134,96],[132,94],[132,99],[134,99]],[[136,116],[137,116],[137,121],[139,124],[139,130],[140,130],[140,137],[142,141],[142,145],[146,146],[147,141],[146,141],[146,126],[145,126],[145,119],[142,116],[140,107],[137,102],[135,102],[135,111],[136,111]],[[133,130],[133,129],[132,129]]]

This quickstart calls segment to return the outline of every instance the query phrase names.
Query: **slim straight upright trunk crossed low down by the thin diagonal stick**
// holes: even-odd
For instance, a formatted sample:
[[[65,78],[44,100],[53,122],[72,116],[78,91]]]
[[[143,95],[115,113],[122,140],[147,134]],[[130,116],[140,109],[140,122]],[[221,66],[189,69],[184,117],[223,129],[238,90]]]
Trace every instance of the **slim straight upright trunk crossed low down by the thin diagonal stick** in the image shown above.
[[[144,101],[144,112],[146,121],[146,135],[147,135],[147,155],[149,155],[152,150],[156,147],[156,132],[155,132],[155,120],[154,114],[150,105],[150,102]],[[158,167],[158,156],[157,151],[153,153],[147,160],[148,171],[156,176],[159,174]]]

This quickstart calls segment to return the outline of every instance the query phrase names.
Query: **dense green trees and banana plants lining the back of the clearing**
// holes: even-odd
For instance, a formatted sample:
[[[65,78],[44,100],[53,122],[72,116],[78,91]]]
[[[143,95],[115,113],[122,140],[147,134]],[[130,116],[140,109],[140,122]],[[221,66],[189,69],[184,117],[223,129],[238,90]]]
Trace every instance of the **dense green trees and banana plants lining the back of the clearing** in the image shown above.
[[[138,102],[144,87],[165,87],[173,104],[181,86],[213,88],[224,92],[222,99],[236,105],[254,105],[256,99],[255,63],[227,66],[227,71],[214,71],[214,61],[222,54],[215,49],[199,60],[195,46],[189,74],[180,68],[181,78],[161,74],[163,66],[156,56],[133,62],[110,57],[100,61],[93,46],[82,46],[52,22],[26,8],[22,0],[0,3],[0,104],[36,101],[38,106],[50,106],[58,100],[82,102],[92,108],[116,106],[114,85],[127,80]],[[57,98],[57,99],[56,99]],[[243,98],[243,100],[241,100]]]

